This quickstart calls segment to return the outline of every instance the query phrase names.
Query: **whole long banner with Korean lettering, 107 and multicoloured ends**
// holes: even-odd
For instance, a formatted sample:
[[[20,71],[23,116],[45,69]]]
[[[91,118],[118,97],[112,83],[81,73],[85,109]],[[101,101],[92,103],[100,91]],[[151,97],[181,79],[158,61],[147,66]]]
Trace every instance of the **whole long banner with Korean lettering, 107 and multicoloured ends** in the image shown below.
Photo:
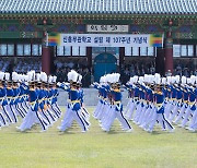
[[[49,34],[48,46],[80,47],[162,47],[159,34]]]

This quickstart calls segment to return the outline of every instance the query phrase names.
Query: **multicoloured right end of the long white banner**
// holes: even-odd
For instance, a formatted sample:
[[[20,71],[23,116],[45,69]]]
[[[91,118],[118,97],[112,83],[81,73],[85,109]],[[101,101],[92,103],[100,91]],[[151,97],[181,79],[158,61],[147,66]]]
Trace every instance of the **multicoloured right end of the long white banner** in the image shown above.
[[[151,34],[149,38],[149,45],[152,47],[163,47],[163,35]]]

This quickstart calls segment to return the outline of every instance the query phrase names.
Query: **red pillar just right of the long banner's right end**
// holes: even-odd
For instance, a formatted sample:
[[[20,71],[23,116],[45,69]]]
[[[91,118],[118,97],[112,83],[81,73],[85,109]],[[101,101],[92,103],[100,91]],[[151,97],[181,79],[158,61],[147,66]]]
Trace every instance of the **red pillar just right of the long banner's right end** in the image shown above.
[[[173,38],[169,32],[165,39],[165,72],[171,71],[173,74]]]

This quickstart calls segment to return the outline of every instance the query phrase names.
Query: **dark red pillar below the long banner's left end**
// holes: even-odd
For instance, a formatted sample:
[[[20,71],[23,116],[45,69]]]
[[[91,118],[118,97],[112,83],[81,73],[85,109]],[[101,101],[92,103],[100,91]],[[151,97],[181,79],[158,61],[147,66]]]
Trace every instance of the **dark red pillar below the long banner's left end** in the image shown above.
[[[42,47],[42,71],[50,74],[51,57],[50,48],[47,46]]]

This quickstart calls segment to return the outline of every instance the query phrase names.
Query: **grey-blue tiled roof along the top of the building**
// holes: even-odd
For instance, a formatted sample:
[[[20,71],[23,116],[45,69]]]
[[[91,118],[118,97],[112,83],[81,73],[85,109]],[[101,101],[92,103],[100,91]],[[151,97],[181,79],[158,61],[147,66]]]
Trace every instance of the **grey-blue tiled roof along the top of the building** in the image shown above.
[[[0,13],[196,14],[197,0],[0,0]]]

